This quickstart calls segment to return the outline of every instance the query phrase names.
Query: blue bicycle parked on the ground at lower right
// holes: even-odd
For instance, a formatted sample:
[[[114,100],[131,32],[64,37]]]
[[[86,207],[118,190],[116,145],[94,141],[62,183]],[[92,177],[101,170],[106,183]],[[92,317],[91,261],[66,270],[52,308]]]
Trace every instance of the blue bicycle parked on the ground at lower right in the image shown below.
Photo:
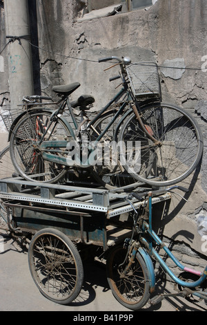
[[[155,305],[166,297],[188,297],[194,295],[207,301],[207,291],[197,289],[204,284],[207,277],[207,266],[204,272],[186,268],[183,266],[161,241],[159,236],[152,230],[152,196],[159,196],[166,192],[172,192],[173,189],[181,189],[186,192],[184,187],[177,185],[166,190],[157,190],[144,192],[137,195],[130,194],[126,200],[133,208],[132,217],[132,236],[124,241],[124,245],[117,245],[112,248],[106,261],[108,284],[112,294],[120,304],[132,310],[138,310],[146,305],[150,299],[150,294],[155,291],[155,270],[152,259],[155,259],[161,268],[170,276],[180,288],[177,293],[156,295],[150,299],[150,304]],[[146,204],[142,211],[137,211],[132,203],[135,196],[140,201],[143,198]],[[166,265],[157,252],[155,245],[163,248],[168,257],[172,259],[180,270],[188,274],[197,275],[196,281],[184,281],[179,279],[172,270]]]

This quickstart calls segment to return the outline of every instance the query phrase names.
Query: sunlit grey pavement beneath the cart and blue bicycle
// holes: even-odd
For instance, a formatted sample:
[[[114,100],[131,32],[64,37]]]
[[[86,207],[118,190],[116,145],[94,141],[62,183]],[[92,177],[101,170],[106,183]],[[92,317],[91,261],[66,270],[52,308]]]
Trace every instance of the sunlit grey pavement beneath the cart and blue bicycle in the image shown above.
[[[79,297],[70,306],[54,304],[39,293],[28,268],[28,254],[23,252],[13,239],[5,236],[0,230],[3,251],[0,252],[0,311],[69,311],[75,315],[88,312],[92,315],[97,311],[110,313],[130,313],[137,316],[119,304],[112,296],[106,280],[105,268],[100,263],[85,263],[85,281]],[[1,248],[1,246],[0,246]],[[172,292],[170,283],[161,284],[166,292]],[[159,286],[157,290],[159,291]],[[207,306],[191,304],[184,298],[168,298],[157,306],[147,304],[141,311],[206,311]],[[71,314],[73,315],[73,314]]]

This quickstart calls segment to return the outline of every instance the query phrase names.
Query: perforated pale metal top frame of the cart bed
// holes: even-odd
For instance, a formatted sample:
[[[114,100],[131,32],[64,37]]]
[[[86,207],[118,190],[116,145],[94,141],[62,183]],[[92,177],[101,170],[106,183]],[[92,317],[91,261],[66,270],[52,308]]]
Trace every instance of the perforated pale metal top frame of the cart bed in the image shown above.
[[[28,191],[19,190],[22,185],[28,187]],[[31,194],[36,190],[37,194]],[[64,191],[56,194],[56,191]],[[164,191],[165,192],[165,191]],[[127,194],[110,192],[107,189],[90,187],[76,187],[70,185],[43,184],[29,182],[21,178],[7,178],[0,180],[0,198],[3,200],[24,201],[30,203],[42,203],[57,207],[72,207],[78,210],[90,210],[105,212],[107,219],[112,216],[132,211],[132,206],[125,201]],[[152,198],[152,204],[166,201],[171,198],[170,193],[164,193]],[[139,208],[144,201],[134,199],[135,208]]]

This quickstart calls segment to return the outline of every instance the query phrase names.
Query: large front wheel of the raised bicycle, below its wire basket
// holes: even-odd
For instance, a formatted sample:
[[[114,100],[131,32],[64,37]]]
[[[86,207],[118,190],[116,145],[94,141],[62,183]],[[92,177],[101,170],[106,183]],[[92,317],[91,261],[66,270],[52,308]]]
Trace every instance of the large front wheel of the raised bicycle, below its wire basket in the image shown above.
[[[141,119],[157,142],[148,138],[132,113],[119,137],[121,164],[149,185],[168,186],[184,180],[197,167],[203,152],[203,136],[195,119],[170,104],[145,107]]]

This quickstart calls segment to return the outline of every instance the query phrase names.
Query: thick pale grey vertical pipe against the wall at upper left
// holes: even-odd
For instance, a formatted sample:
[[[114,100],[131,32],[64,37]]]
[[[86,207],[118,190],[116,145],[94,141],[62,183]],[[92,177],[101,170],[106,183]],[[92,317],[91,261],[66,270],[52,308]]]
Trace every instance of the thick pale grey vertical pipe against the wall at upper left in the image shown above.
[[[4,0],[6,35],[30,40],[28,0]],[[17,39],[8,45],[10,109],[12,115],[22,97],[34,94],[32,55],[26,39]]]

